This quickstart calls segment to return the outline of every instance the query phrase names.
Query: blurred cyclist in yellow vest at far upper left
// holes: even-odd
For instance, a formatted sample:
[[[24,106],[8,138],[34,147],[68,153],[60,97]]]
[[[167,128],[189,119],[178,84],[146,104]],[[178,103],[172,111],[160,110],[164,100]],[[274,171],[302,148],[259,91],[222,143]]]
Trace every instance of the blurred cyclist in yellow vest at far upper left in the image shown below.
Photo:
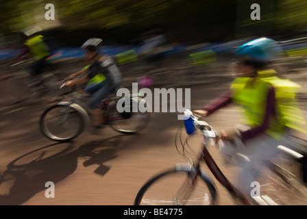
[[[22,57],[28,55],[33,61],[29,67],[30,75],[40,75],[47,64],[46,59],[50,55],[49,47],[45,43],[41,33],[42,29],[38,26],[29,27],[20,31],[19,37],[23,42],[21,53],[9,62],[8,65],[19,62]]]

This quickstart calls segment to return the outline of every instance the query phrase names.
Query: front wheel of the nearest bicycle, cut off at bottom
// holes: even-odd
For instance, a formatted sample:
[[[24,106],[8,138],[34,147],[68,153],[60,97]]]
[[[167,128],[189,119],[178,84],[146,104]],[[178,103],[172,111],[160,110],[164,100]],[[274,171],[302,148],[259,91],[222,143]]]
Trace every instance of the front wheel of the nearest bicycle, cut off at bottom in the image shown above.
[[[217,199],[214,185],[199,176],[196,184],[191,185],[193,174],[192,170],[177,169],[161,172],[140,188],[134,205],[214,205]]]

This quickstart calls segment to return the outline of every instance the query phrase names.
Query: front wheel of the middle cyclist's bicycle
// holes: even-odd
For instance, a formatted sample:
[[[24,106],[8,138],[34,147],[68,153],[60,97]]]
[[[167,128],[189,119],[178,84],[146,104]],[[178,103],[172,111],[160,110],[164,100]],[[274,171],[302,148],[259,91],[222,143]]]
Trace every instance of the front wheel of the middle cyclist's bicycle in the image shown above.
[[[55,117],[51,114],[53,110],[59,112]],[[47,126],[48,117],[54,127],[52,127],[52,125],[51,128]],[[71,118],[71,120],[69,120],[69,118]],[[69,105],[53,105],[47,108],[40,116],[40,131],[42,131],[47,138],[57,142],[68,142],[73,140],[82,133],[84,125],[82,114]],[[63,133],[60,129],[61,127],[64,128],[64,131],[68,131],[68,133]],[[65,129],[65,127],[67,127],[67,129]],[[68,129],[73,129],[73,131],[69,131]]]

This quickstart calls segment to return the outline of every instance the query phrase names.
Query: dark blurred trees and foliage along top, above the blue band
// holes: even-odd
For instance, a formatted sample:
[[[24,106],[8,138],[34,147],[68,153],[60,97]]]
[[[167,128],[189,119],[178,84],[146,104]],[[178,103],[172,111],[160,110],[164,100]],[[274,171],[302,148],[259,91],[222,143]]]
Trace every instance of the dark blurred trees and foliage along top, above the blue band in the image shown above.
[[[54,5],[54,20],[45,19],[47,3]],[[251,20],[253,3],[260,5],[260,20]],[[259,36],[288,40],[306,36],[307,2],[12,0],[1,1],[0,19],[1,49],[15,48],[16,32],[32,25],[42,27],[44,35],[56,38],[61,47],[79,47],[89,37],[103,38],[105,45],[137,45],[153,29],[164,34],[167,42],[183,44]]]

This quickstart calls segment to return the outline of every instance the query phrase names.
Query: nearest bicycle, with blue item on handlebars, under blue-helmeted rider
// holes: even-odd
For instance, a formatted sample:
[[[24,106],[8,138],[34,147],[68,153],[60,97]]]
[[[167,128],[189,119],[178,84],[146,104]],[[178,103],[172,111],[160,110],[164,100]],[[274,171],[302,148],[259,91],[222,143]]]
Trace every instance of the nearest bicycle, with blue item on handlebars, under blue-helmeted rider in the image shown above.
[[[175,137],[175,146],[177,148],[177,151],[182,153],[184,157],[188,158],[188,162],[177,163],[175,168],[165,170],[151,177],[138,191],[138,194],[136,195],[134,201],[135,205],[140,205],[140,203],[156,203],[158,205],[163,203],[172,203],[175,205],[193,205],[194,203],[197,203],[201,205],[214,205],[217,198],[217,187],[216,185],[214,185],[214,181],[211,179],[211,177],[207,175],[204,170],[201,169],[201,162],[204,162],[206,166],[208,166],[210,172],[212,172],[212,174],[214,175],[214,178],[217,179],[217,181],[219,181],[219,183],[221,183],[221,185],[223,185],[226,190],[228,190],[236,204],[279,205],[284,204],[284,201],[286,201],[286,203],[292,203],[293,197],[295,198],[297,194],[301,194],[301,191],[305,191],[305,187],[302,187],[304,185],[300,186],[299,184],[297,184],[297,179],[293,180],[293,177],[296,177],[296,172],[289,172],[286,168],[283,168],[282,165],[279,165],[278,163],[275,164],[273,160],[271,161],[270,159],[266,159],[265,157],[263,157],[263,159],[265,159],[263,163],[256,162],[254,164],[251,164],[253,170],[249,169],[249,166],[247,166],[247,170],[252,171],[251,174],[255,174],[254,176],[256,177],[256,179],[260,179],[261,184],[258,182],[259,185],[257,185],[259,190],[258,192],[260,192],[261,190],[261,192],[265,192],[265,194],[260,195],[260,193],[257,192],[257,194],[250,194],[249,196],[248,190],[246,190],[247,193],[245,193],[245,190],[239,190],[239,188],[236,188],[227,179],[227,177],[225,177],[225,175],[223,174],[217,163],[214,161],[214,158],[210,155],[210,152],[208,150],[209,146],[221,146],[219,144],[222,144],[222,142],[217,141],[219,140],[219,138],[217,138],[218,135],[214,131],[214,129],[212,129],[212,127],[210,127],[210,125],[205,121],[199,120],[196,116],[197,115],[194,116],[190,110],[185,110],[184,124],[188,137],[185,138],[183,141],[181,137],[182,129],[178,129]],[[195,129],[201,130],[202,136],[204,136],[204,142],[201,145],[201,149],[199,150],[200,153],[196,153],[195,151],[193,151],[193,148],[188,145],[188,139],[191,135],[193,135],[193,133],[195,133]],[[177,138],[178,134],[180,134],[179,139]],[[180,149],[178,149],[177,147],[177,140],[180,140],[180,143],[182,145],[182,151],[180,151]],[[189,157],[188,154],[186,154],[188,153],[189,149],[186,149],[185,146],[188,146],[190,149],[192,149],[193,154],[197,156],[193,158]],[[286,156],[292,155],[292,158],[295,157],[296,159],[300,159],[299,162],[302,162],[301,159],[303,158],[303,155],[300,155],[295,151],[289,151],[289,149],[285,146],[278,146],[278,149],[281,149],[284,153],[286,153]],[[277,161],[280,158],[282,157],[280,157],[280,154],[278,153],[278,156],[276,156]],[[257,168],[255,168],[255,164],[257,165]],[[260,166],[258,166],[258,164]],[[265,168],[262,169],[262,165],[265,165]],[[267,171],[269,171],[269,173]],[[258,175],[259,173],[260,175]],[[173,178],[174,175],[176,177],[181,176],[181,178]],[[170,185],[172,185],[172,182],[168,181],[172,179],[175,179],[173,190],[169,188]],[[201,188],[201,185],[197,183],[199,179],[200,181],[204,181],[204,183],[206,184],[204,185],[205,188]],[[269,181],[267,181],[267,179]],[[289,180],[290,182],[288,182]],[[284,188],[280,188],[280,185],[283,185],[284,183],[286,183],[286,185],[284,185]],[[243,185],[243,187],[245,185]],[[163,189],[165,190],[165,194],[163,192],[159,192],[163,191]],[[278,194],[279,191],[282,193]],[[290,194],[291,196],[284,196],[283,192],[289,194],[293,192],[293,194]],[[162,199],[158,199],[157,197],[161,197]],[[306,200],[306,198],[304,200]],[[153,202],[151,203],[151,201]],[[298,198],[297,201],[301,200]]]

